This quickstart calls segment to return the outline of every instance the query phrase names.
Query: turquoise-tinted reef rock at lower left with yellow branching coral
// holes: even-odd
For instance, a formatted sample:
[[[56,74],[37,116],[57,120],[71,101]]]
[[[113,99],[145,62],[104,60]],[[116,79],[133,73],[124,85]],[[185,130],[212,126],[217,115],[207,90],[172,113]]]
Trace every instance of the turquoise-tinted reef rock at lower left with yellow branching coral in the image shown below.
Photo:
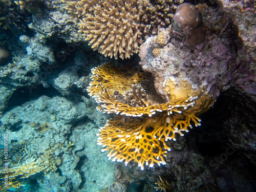
[[[102,163],[98,164],[96,162],[109,162],[104,159],[104,156],[101,159],[100,148],[96,145],[98,126],[89,120],[86,123],[87,125],[76,126],[74,134],[69,139],[67,138],[72,129],[71,123],[74,120],[79,121],[86,118],[87,115],[92,115],[90,119],[94,117],[95,121],[98,119],[98,122],[105,122],[105,119],[101,120],[102,117],[92,114],[92,109],[94,107],[90,106],[88,101],[87,103],[79,102],[75,107],[73,102],[64,97],[50,98],[42,96],[5,113],[1,117],[0,131],[3,133],[3,130],[6,130],[5,133],[8,134],[8,139],[13,141],[9,143],[9,157],[12,161],[11,166],[9,166],[9,176],[19,175],[16,177],[16,181],[23,181],[24,185],[28,184],[31,177],[37,178],[40,186],[48,191],[53,191],[51,186],[61,188],[63,191],[68,190],[68,188],[78,188],[82,182],[82,177],[86,177],[90,181],[98,181],[97,176],[92,173],[94,170],[102,173],[103,170]],[[56,114],[54,119],[52,114]],[[88,127],[88,131],[86,134],[81,134],[84,127]],[[85,145],[88,147],[83,149]],[[91,148],[97,148],[97,150],[93,152]],[[76,154],[73,151],[76,151]],[[84,154],[92,159],[90,162],[94,162],[94,167],[92,170],[86,163],[81,167],[81,170],[86,174],[81,176],[75,169],[80,159],[84,160]],[[93,157],[96,156],[98,158],[94,159]],[[3,157],[1,156],[1,158]],[[62,161],[60,165],[57,164],[59,158]],[[61,171],[61,176],[55,172],[57,165],[58,170]],[[109,172],[106,179],[99,182],[99,186],[102,188],[113,180],[111,167],[112,165],[103,167],[104,170],[108,169]],[[45,172],[46,174],[36,174],[37,172]],[[35,175],[33,176],[33,174]],[[20,177],[24,177],[24,179],[20,179]],[[9,180],[11,181],[10,178]],[[47,181],[49,181],[49,185],[45,185]],[[60,187],[61,183],[65,184]],[[99,191],[98,185],[93,183],[92,185],[87,184],[87,187],[92,188],[91,191]]]

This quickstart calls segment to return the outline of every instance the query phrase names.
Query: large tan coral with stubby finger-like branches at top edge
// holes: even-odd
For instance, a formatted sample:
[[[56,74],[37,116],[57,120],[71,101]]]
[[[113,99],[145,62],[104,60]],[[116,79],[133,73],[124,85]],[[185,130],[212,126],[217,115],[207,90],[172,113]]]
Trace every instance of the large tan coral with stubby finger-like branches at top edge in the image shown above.
[[[123,59],[138,52],[144,37],[169,25],[176,5],[183,1],[175,4],[167,1],[151,4],[148,0],[62,2],[94,50],[115,59],[119,54]]]

